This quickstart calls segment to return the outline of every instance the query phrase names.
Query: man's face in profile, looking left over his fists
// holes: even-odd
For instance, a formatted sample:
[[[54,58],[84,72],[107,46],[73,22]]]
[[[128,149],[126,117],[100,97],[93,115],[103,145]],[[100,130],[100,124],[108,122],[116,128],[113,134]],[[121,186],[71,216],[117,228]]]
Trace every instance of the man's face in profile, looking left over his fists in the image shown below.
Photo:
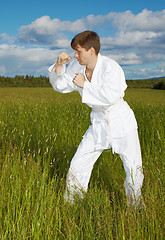
[[[77,58],[80,65],[87,65],[90,61],[91,49],[86,50],[78,45],[75,49],[74,57]]]

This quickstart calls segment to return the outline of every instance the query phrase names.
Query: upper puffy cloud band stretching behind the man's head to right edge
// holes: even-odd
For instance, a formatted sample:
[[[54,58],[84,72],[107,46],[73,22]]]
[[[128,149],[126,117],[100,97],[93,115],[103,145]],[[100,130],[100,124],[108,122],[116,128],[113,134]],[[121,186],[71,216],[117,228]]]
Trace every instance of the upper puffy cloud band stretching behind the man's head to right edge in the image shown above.
[[[109,13],[107,15],[89,15],[74,22],[60,21],[43,16],[29,25],[21,26],[18,39],[22,43],[47,45],[54,47],[68,47],[68,33],[77,33],[86,29],[108,26],[116,27],[116,35],[102,38],[104,49],[153,47],[159,43],[159,48],[165,46],[165,10],[152,12],[147,9],[134,15],[130,11],[123,13]],[[108,23],[108,25],[107,25]],[[99,29],[100,32],[102,31]],[[108,29],[107,29],[108,30]]]

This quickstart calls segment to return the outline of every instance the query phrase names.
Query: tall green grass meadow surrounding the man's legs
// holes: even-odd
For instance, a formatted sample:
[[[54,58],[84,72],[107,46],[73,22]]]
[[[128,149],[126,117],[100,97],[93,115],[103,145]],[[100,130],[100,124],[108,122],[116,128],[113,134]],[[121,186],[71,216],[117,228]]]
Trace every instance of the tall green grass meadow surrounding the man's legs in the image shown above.
[[[78,93],[0,88],[0,239],[163,240],[165,91],[128,89],[141,143],[146,205],[126,204],[122,162],[111,150],[96,162],[89,190],[64,202],[69,163],[90,124]]]

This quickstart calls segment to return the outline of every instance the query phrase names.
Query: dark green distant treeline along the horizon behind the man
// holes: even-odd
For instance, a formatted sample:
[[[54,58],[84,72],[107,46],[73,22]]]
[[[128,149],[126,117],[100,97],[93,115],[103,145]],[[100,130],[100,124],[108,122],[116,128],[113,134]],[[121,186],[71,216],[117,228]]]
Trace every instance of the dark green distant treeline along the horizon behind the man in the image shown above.
[[[147,80],[127,80],[128,88],[150,88],[165,90],[165,77]],[[51,87],[48,77],[19,76],[1,77],[0,87]]]

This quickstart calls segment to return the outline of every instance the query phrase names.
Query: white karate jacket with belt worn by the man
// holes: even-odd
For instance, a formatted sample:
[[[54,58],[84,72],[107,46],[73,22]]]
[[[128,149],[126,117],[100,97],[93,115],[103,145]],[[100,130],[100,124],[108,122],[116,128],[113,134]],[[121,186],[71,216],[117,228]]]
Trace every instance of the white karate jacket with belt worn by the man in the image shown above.
[[[85,66],[76,59],[70,60],[68,66],[63,65],[60,75],[54,70],[55,64],[48,69],[53,88],[61,93],[78,91],[82,102],[92,108],[90,131],[95,137],[95,149],[113,148],[113,139],[125,137],[137,129],[134,113],[123,100],[127,85],[117,62],[98,54],[91,82],[85,76]],[[72,82],[76,73],[85,77],[83,88]]]

